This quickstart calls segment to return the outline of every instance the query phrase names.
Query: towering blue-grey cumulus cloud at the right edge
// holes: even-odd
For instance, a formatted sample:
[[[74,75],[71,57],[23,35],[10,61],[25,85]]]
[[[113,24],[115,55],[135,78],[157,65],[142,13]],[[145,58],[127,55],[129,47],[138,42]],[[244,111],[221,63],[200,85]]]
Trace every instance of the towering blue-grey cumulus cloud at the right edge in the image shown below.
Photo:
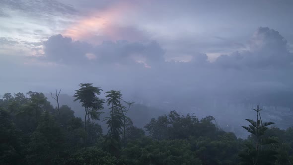
[[[226,68],[283,68],[293,63],[285,38],[278,31],[260,27],[249,41],[249,50],[221,55],[215,62]]]

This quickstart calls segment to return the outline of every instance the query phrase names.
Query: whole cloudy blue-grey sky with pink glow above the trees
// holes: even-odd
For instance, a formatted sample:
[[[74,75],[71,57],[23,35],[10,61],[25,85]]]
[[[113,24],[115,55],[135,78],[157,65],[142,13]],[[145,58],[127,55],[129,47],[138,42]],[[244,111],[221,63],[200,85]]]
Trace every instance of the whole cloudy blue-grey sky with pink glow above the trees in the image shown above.
[[[293,91],[292,0],[0,0],[0,93]]]

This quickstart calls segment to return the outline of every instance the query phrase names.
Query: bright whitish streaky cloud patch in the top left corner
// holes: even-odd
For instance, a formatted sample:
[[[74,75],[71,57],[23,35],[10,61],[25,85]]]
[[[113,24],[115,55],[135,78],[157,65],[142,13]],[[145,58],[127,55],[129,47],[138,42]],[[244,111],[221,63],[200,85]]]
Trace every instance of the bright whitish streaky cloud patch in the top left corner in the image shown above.
[[[58,0],[1,0],[0,37],[42,42],[70,25],[79,12]],[[25,45],[22,45],[24,47]]]

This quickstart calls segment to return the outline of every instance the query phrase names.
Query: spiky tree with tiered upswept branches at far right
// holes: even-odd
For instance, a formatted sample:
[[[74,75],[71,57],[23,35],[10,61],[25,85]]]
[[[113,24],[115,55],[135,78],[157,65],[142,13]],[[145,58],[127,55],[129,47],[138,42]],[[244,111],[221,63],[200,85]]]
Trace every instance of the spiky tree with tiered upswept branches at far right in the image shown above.
[[[239,154],[240,165],[274,165],[277,160],[276,155],[278,152],[274,150],[276,140],[272,138],[265,138],[265,132],[268,129],[267,126],[275,124],[273,122],[262,122],[259,105],[256,109],[253,109],[256,112],[256,121],[251,119],[245,119],[250,124],[248,127],[242,126],[246,129],[254,139],[255,145],[252,143],[245,144],[247,147],[245,151]]]

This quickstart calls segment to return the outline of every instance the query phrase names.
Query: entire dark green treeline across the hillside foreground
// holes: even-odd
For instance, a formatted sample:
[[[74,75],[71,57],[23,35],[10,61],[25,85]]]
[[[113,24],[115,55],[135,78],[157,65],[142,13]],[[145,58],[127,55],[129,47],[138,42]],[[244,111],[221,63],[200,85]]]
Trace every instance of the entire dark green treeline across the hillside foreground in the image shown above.
[[[293,128],[268,127],[274,123],[261,119],[259,107],[256,120],[247,119],[244,129],[251,135],[243,140],[222,131],[212,116],[199,119],[176,111],[138,128],[127,117],[136,110],[133,102],[124,101],[120,91],[105,92],[105,99],[101,92],[91,83],[75,90],[84,118],[75,117],[67,105],[53,107],[43,93],[5,93],[0,99],[0,165],[293,163]],[[100,119],[101,113],[108,115]],[[96,120],[108,125],[106,135]]]

